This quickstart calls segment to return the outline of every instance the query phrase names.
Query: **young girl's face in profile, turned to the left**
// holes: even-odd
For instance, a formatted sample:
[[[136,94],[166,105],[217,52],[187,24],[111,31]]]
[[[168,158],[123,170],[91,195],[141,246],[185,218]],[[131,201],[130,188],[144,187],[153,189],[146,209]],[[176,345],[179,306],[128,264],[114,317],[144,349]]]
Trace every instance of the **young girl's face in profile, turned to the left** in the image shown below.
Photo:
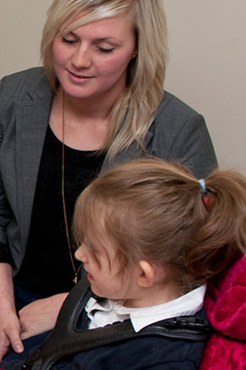
[[[138,267],[132,266],[121,272],[114,247],[106,237],[100,239],[100,243],[94,242],[94,245],[86,237],[75,256],[84,264],[87,279],[96,295],[117,301],[137,298]]]

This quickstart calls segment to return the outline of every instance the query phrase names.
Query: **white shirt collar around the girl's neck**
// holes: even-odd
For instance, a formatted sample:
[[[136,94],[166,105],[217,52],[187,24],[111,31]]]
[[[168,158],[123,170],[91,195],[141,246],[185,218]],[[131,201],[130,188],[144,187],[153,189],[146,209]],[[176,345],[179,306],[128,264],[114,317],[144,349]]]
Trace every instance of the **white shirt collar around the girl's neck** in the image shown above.
[[[134,330],[138,332],[141,328],[163,319],[194,315],[203,307],[205,288],[204,284],[176,300],[140,309],[124,307],[110,300],[98,303],[91,298],[86,306],[87,316],[91,319],[89,328],[105,327],[116,321],[131,319]]]

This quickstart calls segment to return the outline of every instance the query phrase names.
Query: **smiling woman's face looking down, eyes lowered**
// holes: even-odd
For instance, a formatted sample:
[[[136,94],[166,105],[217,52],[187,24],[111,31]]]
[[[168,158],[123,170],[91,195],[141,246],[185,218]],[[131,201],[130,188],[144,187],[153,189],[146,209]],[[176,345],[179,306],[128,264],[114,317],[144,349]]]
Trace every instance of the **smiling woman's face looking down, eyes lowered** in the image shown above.
[[[136,53],[132,19],[122,15],[82,25],[57,37],[52,51],[55,73],[68,96],[114,102]]]

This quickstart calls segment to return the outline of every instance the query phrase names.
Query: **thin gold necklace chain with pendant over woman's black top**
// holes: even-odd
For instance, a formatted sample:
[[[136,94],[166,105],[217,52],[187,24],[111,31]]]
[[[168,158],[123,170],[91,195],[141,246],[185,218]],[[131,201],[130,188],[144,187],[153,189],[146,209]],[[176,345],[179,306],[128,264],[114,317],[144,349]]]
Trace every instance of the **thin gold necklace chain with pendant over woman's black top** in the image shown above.
[[[70,255],[70,260],[74,272],[73,282],[77,284],[77,274],[81,269],[81,264],[76,270],[74,256],[72,253],[72,247],[70,242],[69,230],[68,230],[68,217],[67,217],[67,208],[65,202],[65,109],[64,109],[64,91],[62,91],[62,160],[61,160],[61,196],[62,196],[62,206],[63,206],[63,215],[66,228],[66,236],[68,241],[68,250]]]

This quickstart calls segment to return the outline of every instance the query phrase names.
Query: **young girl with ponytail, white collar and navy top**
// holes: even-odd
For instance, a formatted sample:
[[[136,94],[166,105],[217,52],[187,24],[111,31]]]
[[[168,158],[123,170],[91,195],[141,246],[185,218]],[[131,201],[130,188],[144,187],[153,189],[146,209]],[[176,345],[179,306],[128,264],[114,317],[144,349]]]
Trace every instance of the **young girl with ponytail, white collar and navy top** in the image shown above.
[[[245,221],[246,179],[239,173],[197,180],[155,159],[105,172],[81,193],[74,214],[76,257],[96,294],[84,327],[130,319],[138,332],[163,319],[205,317],[206,282],[245,251]],[[62,369],[198,369],[204,347],[135,338],[81,352]]]

